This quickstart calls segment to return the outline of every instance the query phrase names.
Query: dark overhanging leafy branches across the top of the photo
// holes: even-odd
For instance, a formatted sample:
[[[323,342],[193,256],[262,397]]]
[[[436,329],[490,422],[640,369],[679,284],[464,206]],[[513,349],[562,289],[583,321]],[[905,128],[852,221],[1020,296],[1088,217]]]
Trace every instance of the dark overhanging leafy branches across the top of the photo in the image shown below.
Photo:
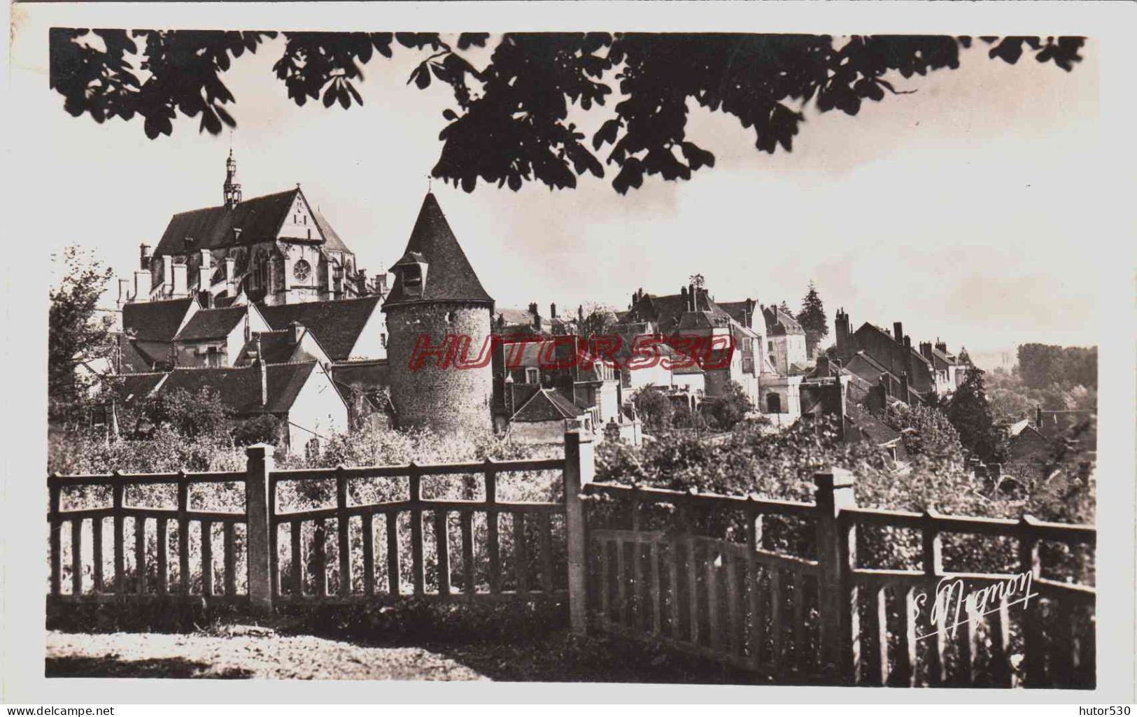
[[[146,135],[173,132],[181,112],[200,116],[200,131],[222,132],[236,119],[222,82],[233,60],[254,53],[275,32],[94,30],[50,31],[49,84],[64,109],[96,122],[142,117]],[[521,189],[524,182],[575,187],[576,177],[605,176],[620,193],[645,176],[689,180],[713,167],[715,157],[687,136],[692,105],[732,116],[754,133],[758,151],[792,149],[803,110],[838,109],[855,116],[865,100],[879,102],[929,70],[960,65],[971,37],[945,35],[507,33],[488,61],[488,33],[462,33],[453,42],[438,33],[283,33],[273,65],[297,105],[362,105],[356,82],[362,65],[396,50],[424,55],[407,80],[425,89],[450,85],[454,106],[442,111],[442,149],[432,174],[467,192],[478,180]],[[1032,53],[1039,62],[1070,70],[1081,60],[1082,37],[982,37],[990,58],[1015,64]],[[147,73],[134,74],[134,64]],[[609,84],[611,81],[611,84]],[[614,87],[619,92],[614,92]],[[588,137],[575,122],[611,107]],[[812,105],[811,105],[812,102]],[[595,110],[599,112],[600,110]],[[589,117],[591,119],[591,117]],[[601,119],[598,117],[597,119]],[[598,153],[611,145],[601,164]]]

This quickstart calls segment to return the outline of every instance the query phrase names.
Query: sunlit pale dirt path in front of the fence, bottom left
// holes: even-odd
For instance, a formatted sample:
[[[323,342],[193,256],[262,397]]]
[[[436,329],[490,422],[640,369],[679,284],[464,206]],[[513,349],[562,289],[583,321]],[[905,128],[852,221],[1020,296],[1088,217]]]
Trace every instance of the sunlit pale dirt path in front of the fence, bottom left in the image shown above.
[[[225,634],[48,633],[49,677],[488,680],[422,648],[366,648],[265,628]]]

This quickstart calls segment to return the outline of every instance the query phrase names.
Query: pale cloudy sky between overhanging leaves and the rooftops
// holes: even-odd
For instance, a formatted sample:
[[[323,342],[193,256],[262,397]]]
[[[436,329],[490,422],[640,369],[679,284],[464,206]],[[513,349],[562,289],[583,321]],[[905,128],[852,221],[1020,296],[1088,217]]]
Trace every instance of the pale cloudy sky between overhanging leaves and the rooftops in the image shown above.
[[[139,244],[156,244],[172,214],[221,202],[232,143],[246,198],[299,182],[360,267],[389,268],[453,98],[439,83],[407,85],[421,56],[404,50],[364,66],[363,107],[298,108],[272,73],[280,43],[223,76],[238,130],[219,136],[191,118],[151,141],[141,119],[72,117],[48,89],[47,57],[17,62],[30,120],[51,137],[28,181],[66,199],[66,210],[38,217],[45,247],[80,243],[128,276]],[[637,289],[675,293],[703,274],[717,300],[796,308],[814,281],[830,326],[844,307],[854,327],[899,320],[913,342],[972,353],[1095,344],[1096,259],[1085,242],[1103,201],[1090,181],[1098,65],[1093,43],[1082,55],[1067,73],[1031,58],[1007,66],[977,43],[958,69],[898,78],[915,92],[866,102],[856,117],[807,107],[794,151],[773,156],[732,117],[696,108],[688,137],[715,167],[688,182],[647,178],[626,195],[611,187],[612,167],[572,191],[432,189],[501,307],[622,309]]]

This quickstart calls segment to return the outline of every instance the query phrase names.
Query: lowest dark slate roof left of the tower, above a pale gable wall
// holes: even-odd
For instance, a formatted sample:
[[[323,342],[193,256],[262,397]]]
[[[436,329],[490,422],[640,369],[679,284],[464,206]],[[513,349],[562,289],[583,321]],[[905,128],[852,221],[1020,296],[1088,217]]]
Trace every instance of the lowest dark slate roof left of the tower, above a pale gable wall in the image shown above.
[[[184,389],[198,393],[208,387],[217,391],[225,407],[235,414],[284,414],[292,408],[315,366],[315,361],[266,365],[266,406],[260,403],[260,367],[257,365],[240,368],[175,368],[161,384],[160,392]]]

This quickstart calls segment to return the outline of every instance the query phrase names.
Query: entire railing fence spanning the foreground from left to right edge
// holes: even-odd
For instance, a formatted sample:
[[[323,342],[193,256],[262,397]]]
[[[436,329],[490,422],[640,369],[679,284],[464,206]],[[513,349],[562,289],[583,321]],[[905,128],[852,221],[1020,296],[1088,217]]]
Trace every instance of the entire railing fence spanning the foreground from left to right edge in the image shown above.
[[[269,447],[255,445],[243,472],[51,475],[49,599],[265,612],[412,595],[567,598],[574,631],[663,642],[781,683],[1094,686],[1095,590],[1055,580],[1043,560],[1056,545],[1092,551],[1093,527],[863,509],[843,470],[815,475],[812,503],[598,484],[592,451],[570,432],[555,459],[277,470]],[[499,500],[499,477],[547,470],[562,473],[559,500]],[[383,500],[366,500],[374,481],[388,482]],[[430,498],[424,481],[459,482],[464,497]],[[281,490],[314,482],[334,484],[334,506],[279,510]],[[238,509],[193,508],[194,486],[216,483],[231,485]],[[161,485],[173,508],[127,505]],[[110,506],[61,509],[74,490],[109,492]],[[906,533],[920,569],[866,565],[898,552],[866,550],[873,531]],[[1013,569],[945,570],[955,535],[1013,542]],[[927,628],[921,600],[935,602],[945,581],[972,592],[1023,575],[1028,602],[1003,594],[984,615]]]

